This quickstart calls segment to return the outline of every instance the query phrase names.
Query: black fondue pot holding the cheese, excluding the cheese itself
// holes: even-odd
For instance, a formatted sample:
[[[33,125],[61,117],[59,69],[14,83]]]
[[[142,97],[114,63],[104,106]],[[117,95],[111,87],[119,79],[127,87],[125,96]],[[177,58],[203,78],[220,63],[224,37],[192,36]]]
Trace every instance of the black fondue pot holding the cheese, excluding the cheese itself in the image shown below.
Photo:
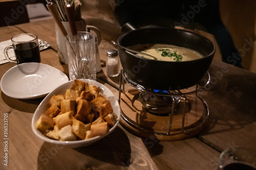
[[[142,86],[159,90],[177,90],[196,85],[208,70],[215,54],[215,45],[204,36],[173,28],[133,30],[122,34],[118,43],[124,47],[147,43],[171,44],[190,48],[204,56],[192,61],[159,61],[137,56],[118,46],[127,78]]]

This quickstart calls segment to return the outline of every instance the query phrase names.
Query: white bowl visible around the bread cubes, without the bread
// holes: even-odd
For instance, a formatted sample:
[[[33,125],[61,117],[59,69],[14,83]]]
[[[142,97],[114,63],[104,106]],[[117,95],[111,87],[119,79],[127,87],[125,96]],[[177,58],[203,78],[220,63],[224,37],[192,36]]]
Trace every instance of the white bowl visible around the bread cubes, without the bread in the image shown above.
[[[34,115],[33,115],[33,119],[32,119],[32,130],[35,133],[36,136],[38,136],[39,138],[41,138],[42,140],[46,141],[46,142],[50,142],[50,143],[54,143],[54,144],[61,144],[61,145],[66,145],[68,147],[71,148],[78,148],[78,147],[85,147],[87,145],[90,145],[100,139],[102,139],[103,137],[105,137],[106,135],[109,135],[111,132],[114,131],[114,129],[117,127],[119,120],[120,120],[120,106],[114,96],[114,94],[110,91],[110,89],[108,89],[106,86],[104,86],[103,84],[96,82],[94,80],[89,80],[89,79],[79,79],[81,81],[87,82],[89,85],[95,85],[96,87],[99,87],[100,92],[110,100],[111,106],[113,108],[114,113],[117,115],[117,123],[114,125],[114,127],[112,127],[108,133],[106,133],[105,135],[102,136],[96,136],[93,137],[91,139],[87,139],[87,140],[76,140],[76,141],[59,141],[59,140],[53,140],[50,139],[48,137],[46,137],[45,135],[43,135],[40,131],[38,131],[36,129],[36,122],[39,119],[39,117],[41,116],[41,114],[46,113],[47,109],[50,107],[50,105],[48,104],[49,100],[51,99],[51,97],[55,94],[65,94],[67,89],[70,89],[71,86],[74,83],[74,80],[69,81],[65,84],[60,85],[59,87],[57,87],[55,90],[53,90],[52,92],[50,92],[46,98],[44,100],[42,100],[42,102],[40,103],[40,105],[37,107]]]

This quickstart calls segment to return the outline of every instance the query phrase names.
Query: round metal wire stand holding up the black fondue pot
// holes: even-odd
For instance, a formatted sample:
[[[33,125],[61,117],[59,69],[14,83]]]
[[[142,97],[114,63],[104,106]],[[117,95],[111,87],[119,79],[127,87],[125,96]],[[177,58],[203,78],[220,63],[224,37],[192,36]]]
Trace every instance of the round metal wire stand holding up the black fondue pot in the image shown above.
[[[180,96],[181,99],[183,100],[184,105],[180,106],[180,107],[185,107],[186,102],[187,102],[187,95],[190,94],[196,94],[195,98],[197,97],[198,99],[200,99],[200,101],[202,102],[202,106],[204,107],[205,111],[203,113],[203,116],[200,118],[200,123],[198,123],[196,126],[189,126],[189,127],[185,127],[185,111],[183,111],[182,114],[182,120],[181,122],[181,128],[179,128],[180,133],[176,133],[176,130],[172,130],[172,126],[173,126],[173,117],[175,116],[175,109],[173,108],[172,111],[169,113],[170,117],[169,117],[169,125],[167,128],[167,131],[165,132],[161,132],[161,131],[155,131],[152,130],[151,128],[147,129],[144,127],[141,127],[138,123],[135,123],[134,120],[132,120],[131,118],[129,118],[129,116],[127,116],[122,108],[121,108],[121,117],[124,120],[124,122],[128,125],[131,126],[132,129],[135,129],[136,131],[138,130],[139,135],[142,135],[143,137],[147,137],[147,136],[151,136],[151,135],[155,135],[159,140],[181,140],[181,139],[185,139],[185,138],[189,138],[192,136],[195,136],[196,134],[198,134],[199,132],[202,131],[202,129],[204,128],[204,125],[207,123],[208,117],[209,117],[209,108],[207,103],[205,102],[205,100],[198,94],[198,92],[200,90],[202,90],[205,86],[207,86],[210,82],[210,76],[208,74],[208,72],[206,72],[205,74],[205,79],[206,81],[203,82],[203,84],[197,84],[195,85],[195,90],[193,91],[185,91],[182,92],[182,90],[176,90],[177,94],[164,94],[167,96]],[[147,88],[147,87],[143,87],[131,80],[129,80],[126,76],[125,76],[125,72],[123,71],[123,69],[121,69],[120,72],[120,84],[119,84],[119,98],[118,98],[118,102],[120,104],[121,102],[121,91],[124,94],[125,90],[124,90],[124,81],[126,83],[128,83],[129,85],[131,85],[132,87],[136,88],[137,90],[140,91],[147,91],[147,92],[151,92],[151,93],[156,93],[153,89]],[[202,83],[202,82],[200,82]],[[194,86],[193,86],[194,87]],[[189,88],[188,88],[189,89]],[[158,94],[161,95],[161,94]],[[174,102],[173,102],[174,104]],[[120,105],[121,106],[121,105]],[[121,123],[121,122],[120,122]],[[122,125],[122,123],[121,123]],[[123,126],[125,128],[125,126]],[[125,128],[126,129],[126,128]],[[176,132],[174,132],[176,131]],[[146,133],[146,135],[144,135],[144,133]],[[167,137],[166,137],[167,136]]]

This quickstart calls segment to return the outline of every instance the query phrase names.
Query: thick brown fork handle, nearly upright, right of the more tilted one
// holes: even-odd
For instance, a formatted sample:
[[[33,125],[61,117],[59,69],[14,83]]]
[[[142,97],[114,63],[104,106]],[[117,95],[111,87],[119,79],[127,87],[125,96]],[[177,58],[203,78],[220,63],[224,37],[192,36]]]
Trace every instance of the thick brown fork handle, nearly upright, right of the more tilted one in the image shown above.
[[[71,34],[76,36],[77,35],[77,29],[76,29],[76,22],[75,22],[74,6],[68,4],[68,5],[65,6],[65,10],[66,10],[66,13],[67,13]]]

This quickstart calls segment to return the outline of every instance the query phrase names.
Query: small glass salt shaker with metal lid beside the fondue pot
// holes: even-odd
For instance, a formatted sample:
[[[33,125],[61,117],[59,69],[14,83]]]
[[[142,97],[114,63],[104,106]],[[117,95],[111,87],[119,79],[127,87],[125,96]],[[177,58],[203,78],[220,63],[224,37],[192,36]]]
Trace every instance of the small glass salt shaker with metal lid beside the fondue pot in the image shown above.
[[[120,71],[120,59],[118,51],[109,50],[106,52],[106,56],[106,75],[110,77],[118,76]]]

